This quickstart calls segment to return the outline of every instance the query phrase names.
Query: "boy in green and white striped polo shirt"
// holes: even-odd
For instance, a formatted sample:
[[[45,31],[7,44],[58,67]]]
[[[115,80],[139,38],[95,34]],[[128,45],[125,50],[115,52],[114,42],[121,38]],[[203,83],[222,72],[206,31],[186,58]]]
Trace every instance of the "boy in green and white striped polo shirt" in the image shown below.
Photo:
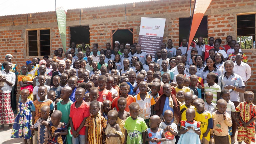
[[[214,104],[216,104],[217,100],[220,99],[220,91],[221,91],[220,86],[214,82],[215,79],[216,79],[215,73],[208,73],[206,76],[207,83],[204,84],[205,92],[210,91],[213,93],[212,103]]]

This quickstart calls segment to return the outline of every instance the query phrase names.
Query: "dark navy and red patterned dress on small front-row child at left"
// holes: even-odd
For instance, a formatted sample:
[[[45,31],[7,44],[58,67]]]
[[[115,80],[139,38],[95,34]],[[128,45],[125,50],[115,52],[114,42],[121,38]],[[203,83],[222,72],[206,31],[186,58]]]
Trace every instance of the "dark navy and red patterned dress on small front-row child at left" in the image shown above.
[[[57,135],[55,137],[53,137],[55,132],[63,132],[67,129],[67,125],[64,123],[64,126],[62,126],[61,128],[56,128],[52,122],[49,122],[49,126],[51,128],[51,135],[52,135],[52,140],[49,141],[48,144],[66,144],[66,135]]]

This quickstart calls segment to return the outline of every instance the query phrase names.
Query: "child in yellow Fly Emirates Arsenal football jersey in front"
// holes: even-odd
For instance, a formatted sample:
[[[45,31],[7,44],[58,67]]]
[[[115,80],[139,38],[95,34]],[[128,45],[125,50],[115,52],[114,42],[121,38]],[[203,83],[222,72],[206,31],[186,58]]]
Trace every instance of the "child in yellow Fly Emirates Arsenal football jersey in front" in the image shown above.
[[[194,106],[197,109],[196,112],[196,121],[200,121],[200,141],[204,144],[209,144],[210,141],[210,129],[213,128],[212,116],[211,113],[205,110],[205,102],[203,99],[198,98],[194,101]]]

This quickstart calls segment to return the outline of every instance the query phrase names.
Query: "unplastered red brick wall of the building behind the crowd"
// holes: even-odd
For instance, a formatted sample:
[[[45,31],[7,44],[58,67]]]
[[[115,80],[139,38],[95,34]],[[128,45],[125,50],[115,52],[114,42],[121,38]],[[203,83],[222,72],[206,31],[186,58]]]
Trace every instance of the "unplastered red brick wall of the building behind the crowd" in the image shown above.
[[[138,41],[141,17],[166,18],[164,42],[173,39],[173,45],[179,45],[179,18],[189,17],[189,0],[162,0],[125,5],[106,6],[83,9],[80,20],[80,9],[67,12],[67,39],[66,46],[70,46],[70,27],[90,27],[90,44],[98,43],[100,49],[105,48],[106,42],[111,42],[111,30],[116,28],[133,28],[134,41]],[[192,11],[194,2],[192,2]],[[236,15],[239,13],[256,12],[255,0],[213,0],[205,15],[208,16],[208,37],[221,38],[226,44],[226,36],[236,37]],[[13,63],[20,68],[26,60],[26,29],[50,28],[51,56],[54,50],[62,47],[58,32],[55,12],[45,12],[0,17],[0,61],[10,53],[14,56]],[[15,52],[17,50],[17,53]],[[255,50],[245,50],[252,66],[252,77],[256,73],[250,58],[256,57]],[[42,58],[39,57],[39,58]],[[255,65],[256,66],[256,65]],[[256,76],[255,76],[256,77]],[[247,89],[255,89],[256,79],[248,81]]]

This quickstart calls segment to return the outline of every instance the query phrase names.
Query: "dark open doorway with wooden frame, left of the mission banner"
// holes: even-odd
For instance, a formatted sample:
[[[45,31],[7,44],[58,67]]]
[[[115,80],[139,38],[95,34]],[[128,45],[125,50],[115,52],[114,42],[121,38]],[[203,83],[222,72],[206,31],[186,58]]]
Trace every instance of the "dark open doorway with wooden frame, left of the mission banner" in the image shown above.
[[[130,45],[133,44],[133,28],[127,29],[112,29],[112,48],[114,49],[115,41],[119,41],[120,44],[129,43]]]

